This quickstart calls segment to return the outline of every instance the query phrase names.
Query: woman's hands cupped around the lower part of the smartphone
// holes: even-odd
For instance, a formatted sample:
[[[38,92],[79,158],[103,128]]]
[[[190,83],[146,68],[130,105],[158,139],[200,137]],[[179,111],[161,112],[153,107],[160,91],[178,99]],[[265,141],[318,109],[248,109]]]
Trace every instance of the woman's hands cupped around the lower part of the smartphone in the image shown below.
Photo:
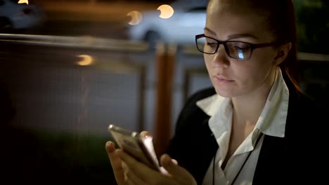
[[[110,163],[115,174],[117,184],[196,184],[192,175],[175,163],[167,154],[160,158],[160,164],[167,170],[167,174],[157,172],[147,165],[138,162],[121,149],[115,149],[114,143],[108,142],[105,146]]]

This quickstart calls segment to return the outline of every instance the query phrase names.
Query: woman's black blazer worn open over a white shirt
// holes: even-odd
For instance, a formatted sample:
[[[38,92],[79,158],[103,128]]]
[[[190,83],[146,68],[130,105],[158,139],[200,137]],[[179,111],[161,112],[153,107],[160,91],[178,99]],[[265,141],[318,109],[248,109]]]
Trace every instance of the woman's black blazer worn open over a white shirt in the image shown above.
[[[329,175],[328,165],[324,165],[328,139],[322,132],[328,119],[322,120],[324,111],[316,102],[297,92],[292,83],[287,85],[290,99],[285,137],[265,135],[253,184],[318,184]],[[169,144],[169,155],[191,172],[198,184],[202,184],[218,144],[208,126],[209,116],[195,102],[214,94],[214,88],[207,88],[188,99]]]

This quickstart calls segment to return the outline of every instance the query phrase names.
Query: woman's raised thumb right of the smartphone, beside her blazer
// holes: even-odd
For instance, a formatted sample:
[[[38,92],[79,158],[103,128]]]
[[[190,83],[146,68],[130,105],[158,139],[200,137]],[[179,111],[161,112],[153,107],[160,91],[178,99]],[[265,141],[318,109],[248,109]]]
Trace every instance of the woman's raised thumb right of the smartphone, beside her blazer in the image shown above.
[[[195,179],[192,174],[188,172],[185,168],[179,166],[176,160],[172,159],[168,154],[163,154],[160,158],[160,163],[162,167],[179,182],[183,184],[196,184]]]

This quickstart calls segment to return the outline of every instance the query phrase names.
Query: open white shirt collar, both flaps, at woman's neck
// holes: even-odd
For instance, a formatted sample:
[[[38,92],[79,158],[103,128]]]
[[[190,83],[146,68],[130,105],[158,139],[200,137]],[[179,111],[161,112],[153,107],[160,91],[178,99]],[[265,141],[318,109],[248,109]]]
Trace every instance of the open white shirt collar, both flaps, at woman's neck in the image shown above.
[[[202,109],[205,114],[212,117],[217,113],[217,111],[221,111],[221,115],[225,115],[225,111],[228,111],[228,109],[226,109],[228,106],[227,101],[231,101],[230,98],[221,97],[220,95],[216,94],[199,100],[196,102],[196,105],[200,107],[200,109]],[[288,114],[288,102],[289,90],[285,84],[285,81],[283,80],[282,73],[278,68],[276,80],[271,87],[269,97],[267,97],[266,104],[262,114],[259,116],[254,130],[259,129],[260,132],[264,133],[265,135],[285,137],[285,123]],[[225,108],[223,105],[225,105]],[[221,126],[223,125],[221,124]]]

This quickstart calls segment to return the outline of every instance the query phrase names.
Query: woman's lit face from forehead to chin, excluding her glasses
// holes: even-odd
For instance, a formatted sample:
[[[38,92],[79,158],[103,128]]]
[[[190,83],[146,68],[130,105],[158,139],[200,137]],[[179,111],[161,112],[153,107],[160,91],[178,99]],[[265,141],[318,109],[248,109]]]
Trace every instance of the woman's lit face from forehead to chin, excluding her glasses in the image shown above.
[[[266,29],[265,20],[243,4],[233,1],[210,1],[207,8],[205,36],[219,41],[270,43],[273,36]],[[225,1],[225,0],[224,0]],[[214,55],[205,54],[205,64],[217,94],[238,97],[269,90],[276,70],[278,50],[269,46],[256,48],[249,60],[229,57],[223,45]]]

